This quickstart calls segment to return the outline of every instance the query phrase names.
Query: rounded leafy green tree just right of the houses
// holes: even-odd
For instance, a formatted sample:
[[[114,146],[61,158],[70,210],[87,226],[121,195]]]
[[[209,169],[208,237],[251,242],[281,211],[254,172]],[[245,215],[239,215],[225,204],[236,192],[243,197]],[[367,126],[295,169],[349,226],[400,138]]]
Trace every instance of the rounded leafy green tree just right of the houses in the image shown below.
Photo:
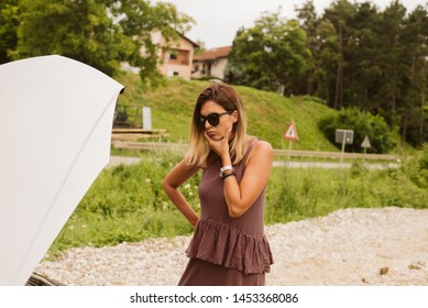
[[[264,90],[295,94],[310,62],[305,31],[296,21],[263,13],[254,26],[241,29],[233,40],[226,80]]]

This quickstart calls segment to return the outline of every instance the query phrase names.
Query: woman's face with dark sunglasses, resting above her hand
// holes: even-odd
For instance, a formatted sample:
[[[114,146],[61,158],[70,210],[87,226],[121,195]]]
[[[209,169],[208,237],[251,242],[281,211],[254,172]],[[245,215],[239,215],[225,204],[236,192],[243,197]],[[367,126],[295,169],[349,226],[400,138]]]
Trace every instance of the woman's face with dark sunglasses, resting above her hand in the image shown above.
[[[202,130],[207,132],[208,136],[211,140],[219,141],[223,139],[226,131],[232,129],[233,123],[238,121],[238,111],[227,113],[223,107],[210,100],[200,108],[199,118],[201,119]],[[233,133],[230,134],[230,138],[232,136]]]

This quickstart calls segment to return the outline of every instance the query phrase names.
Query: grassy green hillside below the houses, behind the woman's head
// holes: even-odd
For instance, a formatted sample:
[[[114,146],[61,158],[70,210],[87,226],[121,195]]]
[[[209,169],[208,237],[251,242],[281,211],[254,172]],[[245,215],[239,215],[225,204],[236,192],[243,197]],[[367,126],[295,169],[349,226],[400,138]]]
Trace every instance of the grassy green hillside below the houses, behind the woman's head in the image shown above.
[[[165,85],[149,89],[135,74],[123,74],[117,79],[125,86],[124,94],[119,98],[119,106],[138,107],[136,110],[141,110],[143,106],[151,107],[153,129],[165,129],[171,142],[187,142],[196,98],[209,81],[168,78]],[[268,141],[275,148],[288,148],[289,141],[283,135],[293,119],[299,136],[298,142],[293,142],[293,148],[337,151],[317,127],[321,117],[333,113],[334,110],[312,98],[286,98],[248,87],[237,89],[248,113],[250,134]],[[132,109],[128,110],[132,113]]]

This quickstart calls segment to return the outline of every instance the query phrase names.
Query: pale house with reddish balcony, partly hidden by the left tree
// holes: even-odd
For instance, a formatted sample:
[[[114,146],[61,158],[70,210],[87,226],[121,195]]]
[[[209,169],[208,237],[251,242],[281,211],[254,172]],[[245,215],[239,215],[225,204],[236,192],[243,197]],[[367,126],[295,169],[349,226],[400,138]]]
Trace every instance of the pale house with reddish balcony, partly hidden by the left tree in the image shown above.
[[[161,63],[157,68],[160,72],[167,77],[180,76],[190,79],[194,51],[198,44],[182,34],[179,34],[178,42],[169,42],[169,44],[166,44],[160,33],[154,34],[153,40],[162,46],[158,54]]]

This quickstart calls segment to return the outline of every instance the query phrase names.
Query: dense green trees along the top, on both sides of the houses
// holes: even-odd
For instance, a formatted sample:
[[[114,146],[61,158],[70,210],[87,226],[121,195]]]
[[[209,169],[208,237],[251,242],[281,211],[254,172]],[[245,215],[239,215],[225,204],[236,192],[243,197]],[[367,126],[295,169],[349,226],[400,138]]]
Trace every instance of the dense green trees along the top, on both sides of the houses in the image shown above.
[[[151,33],[186,33],[193,19],[147,0],[2,0],[0,64],[61,54],[114,76],[122,62],[156,84]],[[428,11],[399,0],[333,0],[319,14],[308,0],[296,19],[264,12],[233,41],[226,81],[285,96],[318,97],[336,110],[382,117],[402,144],[428,141]],[[144,55],[141,51],[144,50]]]

